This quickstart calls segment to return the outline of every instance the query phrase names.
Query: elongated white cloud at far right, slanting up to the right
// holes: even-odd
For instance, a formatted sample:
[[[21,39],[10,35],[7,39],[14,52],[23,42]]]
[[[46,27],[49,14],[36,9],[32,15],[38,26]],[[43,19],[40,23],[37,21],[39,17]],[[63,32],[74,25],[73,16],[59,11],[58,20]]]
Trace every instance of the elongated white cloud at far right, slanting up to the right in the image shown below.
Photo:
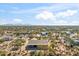
[[[73,16],[77,13],[77,10],[66,10],[64,12],[59,12],[56,14],[57,17],[67,17],[67,16]]]

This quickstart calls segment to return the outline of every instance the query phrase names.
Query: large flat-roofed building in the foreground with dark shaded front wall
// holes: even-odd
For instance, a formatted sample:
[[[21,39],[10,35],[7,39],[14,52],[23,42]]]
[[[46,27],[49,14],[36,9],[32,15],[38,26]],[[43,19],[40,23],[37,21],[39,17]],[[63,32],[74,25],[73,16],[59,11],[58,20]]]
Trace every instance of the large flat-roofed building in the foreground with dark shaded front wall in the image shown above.
[[[50,46],[49,40],[29,40],[26,50],[47,50]]]

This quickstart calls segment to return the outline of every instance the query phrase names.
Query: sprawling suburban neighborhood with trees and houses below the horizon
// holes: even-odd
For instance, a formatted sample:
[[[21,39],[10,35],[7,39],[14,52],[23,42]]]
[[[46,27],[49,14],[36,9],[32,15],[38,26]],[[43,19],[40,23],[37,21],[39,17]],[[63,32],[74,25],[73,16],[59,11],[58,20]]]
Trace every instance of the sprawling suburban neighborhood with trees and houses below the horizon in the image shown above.
[[[78,54],[78,26],[0,26],[1,56]]]

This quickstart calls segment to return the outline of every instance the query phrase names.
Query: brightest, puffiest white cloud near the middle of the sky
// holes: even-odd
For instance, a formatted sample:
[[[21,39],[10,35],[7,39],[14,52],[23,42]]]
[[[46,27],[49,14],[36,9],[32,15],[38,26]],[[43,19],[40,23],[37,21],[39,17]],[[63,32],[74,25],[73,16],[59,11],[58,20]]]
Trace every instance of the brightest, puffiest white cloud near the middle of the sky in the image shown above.
[[[54,14],[49,11],[42,11],[41,13],[37,14],[35,18],[41,20],[55,20]]]

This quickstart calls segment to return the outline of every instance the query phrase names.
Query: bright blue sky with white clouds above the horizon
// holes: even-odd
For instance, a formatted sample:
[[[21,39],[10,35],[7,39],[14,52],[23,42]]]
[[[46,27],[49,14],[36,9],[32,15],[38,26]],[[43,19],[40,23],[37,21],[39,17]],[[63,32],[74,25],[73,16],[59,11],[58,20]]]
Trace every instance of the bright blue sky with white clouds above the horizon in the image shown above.
[[[79,25],[78,3],[0,3],[0,25]]]

